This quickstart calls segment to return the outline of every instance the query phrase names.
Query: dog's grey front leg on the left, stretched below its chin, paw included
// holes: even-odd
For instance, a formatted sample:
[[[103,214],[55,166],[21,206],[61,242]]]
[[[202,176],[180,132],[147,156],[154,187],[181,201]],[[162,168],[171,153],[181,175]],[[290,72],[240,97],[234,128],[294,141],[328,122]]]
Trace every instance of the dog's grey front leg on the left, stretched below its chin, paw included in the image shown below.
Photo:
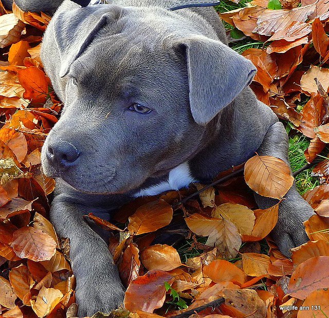
[[[79,316],[109,312],[123,302],[124,290],[106,243],[84,222],[87,208],[65,194],[51,205],[50,221],[60,237],[70,239],[70,259],[77,278]]]

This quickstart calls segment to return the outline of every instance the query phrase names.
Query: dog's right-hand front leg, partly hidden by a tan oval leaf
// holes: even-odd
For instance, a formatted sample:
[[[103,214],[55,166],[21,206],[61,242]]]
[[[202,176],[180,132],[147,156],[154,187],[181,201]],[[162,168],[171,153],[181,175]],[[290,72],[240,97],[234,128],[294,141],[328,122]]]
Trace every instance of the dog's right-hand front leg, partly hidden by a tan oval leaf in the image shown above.
[[[257,150],[259,155],[269,155],[288,161],[288,136],[282,123],[273,124]],[[261,209],[275,205],[278,201],[255,193],[255,199]],[[305,243],[308,238],[303,222],[314,213],[312,207],[299,195],[295,182],[279,206],[279,220],[271,232],[281,252],[290,255],[290,249]]]

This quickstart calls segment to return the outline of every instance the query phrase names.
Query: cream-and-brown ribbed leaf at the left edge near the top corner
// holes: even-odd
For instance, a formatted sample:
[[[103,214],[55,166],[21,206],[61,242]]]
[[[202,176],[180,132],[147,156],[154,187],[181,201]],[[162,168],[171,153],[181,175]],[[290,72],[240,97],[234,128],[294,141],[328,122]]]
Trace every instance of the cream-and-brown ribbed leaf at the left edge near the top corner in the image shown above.
[[[0,16],[0,48],[19,42],[25,24],[13,13]]]

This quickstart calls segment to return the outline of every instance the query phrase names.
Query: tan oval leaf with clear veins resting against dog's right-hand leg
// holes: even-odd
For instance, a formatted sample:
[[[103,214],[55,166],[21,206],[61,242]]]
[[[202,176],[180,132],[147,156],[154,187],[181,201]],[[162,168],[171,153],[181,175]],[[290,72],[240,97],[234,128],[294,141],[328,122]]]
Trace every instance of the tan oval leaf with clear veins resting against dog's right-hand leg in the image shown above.
[[[245,180],[260,195],[281,199],[294,183],[289,166],[272,156],[251,157],[245,164]]]

